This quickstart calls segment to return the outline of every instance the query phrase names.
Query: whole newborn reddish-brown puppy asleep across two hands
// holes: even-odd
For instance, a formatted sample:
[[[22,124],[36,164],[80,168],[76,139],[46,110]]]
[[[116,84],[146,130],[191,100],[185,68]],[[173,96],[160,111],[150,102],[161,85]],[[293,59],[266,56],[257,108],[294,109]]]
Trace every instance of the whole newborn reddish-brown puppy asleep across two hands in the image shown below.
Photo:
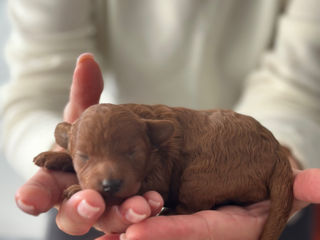
[[[164,105],[98,104],[74,123],[60,123],[56,142],[67,152],[44,152],[34,162],[75,171],[79,185],[108,204],[158,191],[165,206],[193,213],[226,202],[271,200],[262,240],[278,239],[293,201],[286,150],[249,116]]]

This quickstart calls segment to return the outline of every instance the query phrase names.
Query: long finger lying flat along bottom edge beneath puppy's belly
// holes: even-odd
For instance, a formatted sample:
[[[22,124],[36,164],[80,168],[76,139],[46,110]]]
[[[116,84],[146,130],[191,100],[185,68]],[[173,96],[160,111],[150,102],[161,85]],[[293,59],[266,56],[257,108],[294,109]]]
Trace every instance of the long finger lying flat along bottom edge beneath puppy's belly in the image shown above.
[[[128,227],[121,240],[258,239],[266,217],[202,211],[193,215],[158,216]]]

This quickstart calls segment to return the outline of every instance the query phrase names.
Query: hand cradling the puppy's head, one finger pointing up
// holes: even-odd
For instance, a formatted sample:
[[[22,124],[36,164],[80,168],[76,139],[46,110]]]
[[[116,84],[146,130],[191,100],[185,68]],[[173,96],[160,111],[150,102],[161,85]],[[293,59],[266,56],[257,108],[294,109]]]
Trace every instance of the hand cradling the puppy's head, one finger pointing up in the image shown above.
[[[103,79],[98,64],[91,54],[81,55],[74,71],[64,120],[73,122],[87,107],[98,103],[102,89]],[[63,191],[75,183],[75,174],[39,169],[17,191],[17,205],[32,215],[56,206],[59,209],[57,225],[72,235],[85,234],[93,225],[103,232],[124,232],[130,224],[156,215],[163,206],[163,200],[156,192],[129,198],[112,208],[106,206],[100,194],[93,190],[80,191],[64,200]]]

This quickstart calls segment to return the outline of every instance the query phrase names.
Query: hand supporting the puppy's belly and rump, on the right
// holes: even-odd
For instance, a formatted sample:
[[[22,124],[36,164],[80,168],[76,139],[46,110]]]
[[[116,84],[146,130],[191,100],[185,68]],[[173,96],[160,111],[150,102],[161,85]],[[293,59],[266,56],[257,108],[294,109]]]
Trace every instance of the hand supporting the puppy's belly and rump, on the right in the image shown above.
[[[320,169],[294,170],[292,214],[320,203]],[[248,207],[226,206],[192,215],[157,216],[129,226],[120,240],[258,240],[268,216],[269,201]],[[118,239],[105,235],[99,240]]]

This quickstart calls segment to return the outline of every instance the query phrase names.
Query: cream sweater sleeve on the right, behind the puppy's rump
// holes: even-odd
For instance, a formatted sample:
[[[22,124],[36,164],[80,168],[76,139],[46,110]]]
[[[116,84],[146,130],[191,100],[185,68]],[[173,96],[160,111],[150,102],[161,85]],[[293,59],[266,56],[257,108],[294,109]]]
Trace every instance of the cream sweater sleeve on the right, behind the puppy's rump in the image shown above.
[[[293,0],[237,111],[256,117],[304,167],[320,167],[319,100],[320,2]]]

